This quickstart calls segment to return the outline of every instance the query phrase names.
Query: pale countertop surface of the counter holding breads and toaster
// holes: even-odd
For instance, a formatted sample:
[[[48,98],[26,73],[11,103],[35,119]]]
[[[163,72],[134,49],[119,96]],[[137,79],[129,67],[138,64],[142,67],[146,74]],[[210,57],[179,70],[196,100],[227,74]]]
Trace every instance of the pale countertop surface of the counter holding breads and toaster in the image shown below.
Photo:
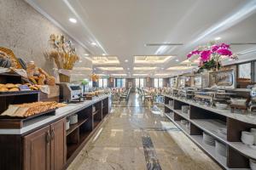
[[[98,97],[96,99],[92,100],[86,100],[83,103],[78,103],[78,104],[69,104],[65,107],[61,107],[56,110],[55,116],[47,116],[47,117],[40,117],[40,120],[36,122],[30,122],[27,123],[26,127],[22,127],[20,129],[0,129],[0,134],[23,134],[27,133],[29,131],[32,131],[35,128],[44,126],[45,124],[48,124],[49,122],[54,122],[55,120],[60,119],[61,117],[65,117],[68,114],[72,112],[76,112],[81,110],[82,108],[86,108],[90,105],[95,104],[96,102],[106,99],[110,97],[110,95],[103,95],[101,97]]]

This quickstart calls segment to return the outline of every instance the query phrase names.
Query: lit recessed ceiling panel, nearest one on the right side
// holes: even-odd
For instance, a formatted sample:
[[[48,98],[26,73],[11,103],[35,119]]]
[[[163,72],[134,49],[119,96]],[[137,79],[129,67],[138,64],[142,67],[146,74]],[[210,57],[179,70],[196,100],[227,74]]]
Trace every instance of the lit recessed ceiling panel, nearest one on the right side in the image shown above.
[[[136,55],[134,56],[135,64],[163,64],[172,59],[172,55]]]

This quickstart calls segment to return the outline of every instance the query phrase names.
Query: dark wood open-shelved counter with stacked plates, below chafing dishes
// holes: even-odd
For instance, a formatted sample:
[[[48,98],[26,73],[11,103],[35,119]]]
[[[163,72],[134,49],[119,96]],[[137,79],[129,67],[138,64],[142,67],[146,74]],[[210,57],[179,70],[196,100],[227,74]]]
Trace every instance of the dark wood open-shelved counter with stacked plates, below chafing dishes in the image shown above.
[[[187,114],[182,111],[183,105],[189,106]],[[256,127],[255,115],[231,113],[170,95],[165,95],[165,113],[189,139],[225,169],[249,169],[249,159],[256,159],[256,150],[241,142],[241,131]],[[184,126],[182,120],[189,122],[189,126]],[[226,135],[218,133],[220,128],[226,129]],[[218,155],[214,146],[205,144],[203,133],[224,144],[227,156]]]

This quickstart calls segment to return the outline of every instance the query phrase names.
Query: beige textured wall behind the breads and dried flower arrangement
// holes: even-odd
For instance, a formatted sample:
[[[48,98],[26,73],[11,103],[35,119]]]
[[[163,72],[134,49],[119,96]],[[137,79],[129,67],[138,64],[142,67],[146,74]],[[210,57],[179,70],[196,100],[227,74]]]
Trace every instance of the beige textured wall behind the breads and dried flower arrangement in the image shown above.
[[[44,57],[44,52],[49,49],[49,35],[53,33],[65,35],[28,3],[23,0],[0,0],[0,46],[12,49],[16,57],[25,61],[34,60],[51,74],[54,64]],[[77,42],[73,43],[79,56],[87,53]],[[84,59],[77,65],[92,67],[91,62]],[[90,73],[84,71],[84,74]]]

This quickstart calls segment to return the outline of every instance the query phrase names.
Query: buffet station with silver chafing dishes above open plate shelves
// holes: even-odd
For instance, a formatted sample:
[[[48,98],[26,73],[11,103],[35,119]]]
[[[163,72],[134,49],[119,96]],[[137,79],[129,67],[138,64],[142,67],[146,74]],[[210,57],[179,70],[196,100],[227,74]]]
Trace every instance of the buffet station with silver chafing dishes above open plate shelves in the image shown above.
[[[256,162],[256,88],[236,88],[235,74],[181,75],[177,83],[172,78],[163,94],[165,113],[224,169],[250,169]]]

